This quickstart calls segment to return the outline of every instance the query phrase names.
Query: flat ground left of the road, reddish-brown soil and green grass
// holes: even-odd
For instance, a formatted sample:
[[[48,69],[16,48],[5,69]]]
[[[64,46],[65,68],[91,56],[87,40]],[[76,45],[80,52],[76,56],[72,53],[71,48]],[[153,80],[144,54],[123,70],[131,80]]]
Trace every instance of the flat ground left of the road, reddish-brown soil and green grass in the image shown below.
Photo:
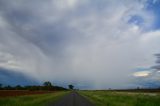
[[[0,91],[0,94],[3,91]],[[11,93],[11,97],[8,94]],[[18,92],[18,94],[16,94]],[[49,103],[55,102],[57,99],[63,97],[68,92],[67,91],[57,91],[57,92],[39,92],[39,91],[32,91],[32,92],[24,92],[22,91],[5,91],[8,97],[0,98],[0,106],[48,106]],[[31,95],[32,93],[32,95]],[[35,95],[36,94],[36,95]],[[2,95],[2,94],[1,94]],[[4,95],[4,92],[3,92]],[[13,97],[14,95],[14,97]],[[17,96],[23,95],[23,96]]]

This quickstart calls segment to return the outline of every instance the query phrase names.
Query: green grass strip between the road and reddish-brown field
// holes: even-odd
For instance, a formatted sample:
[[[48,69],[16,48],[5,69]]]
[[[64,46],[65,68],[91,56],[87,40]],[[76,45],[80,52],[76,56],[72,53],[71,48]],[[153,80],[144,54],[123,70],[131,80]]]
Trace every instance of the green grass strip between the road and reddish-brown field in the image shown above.
[[[0,106],[47,106],[67,93],[67,91],[61,91],[50,94],[0,98]]]

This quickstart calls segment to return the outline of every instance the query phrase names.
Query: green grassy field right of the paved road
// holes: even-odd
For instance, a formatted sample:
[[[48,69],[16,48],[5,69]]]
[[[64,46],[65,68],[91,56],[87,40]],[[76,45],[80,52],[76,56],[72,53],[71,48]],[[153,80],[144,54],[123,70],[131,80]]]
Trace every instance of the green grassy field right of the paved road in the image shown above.
[[[160,94],[116,91],[79,91],[96,106],[160,106]]]

